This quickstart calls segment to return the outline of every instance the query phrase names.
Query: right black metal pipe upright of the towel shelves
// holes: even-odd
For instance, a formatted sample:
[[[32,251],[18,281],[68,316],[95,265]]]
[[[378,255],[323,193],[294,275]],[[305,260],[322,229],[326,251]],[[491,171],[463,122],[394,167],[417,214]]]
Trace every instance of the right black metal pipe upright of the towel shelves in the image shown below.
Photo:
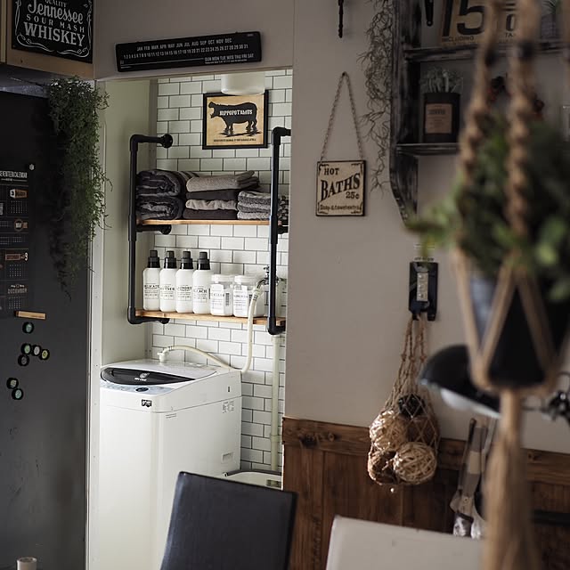
[[[267,315],[267,332],[279,335],[285,332],[284,325],[277,324],[276,289],[277,289],[277,242],[279,241],[279,151],[281,137],[290,136],[291,130],[284,126],[276,126],[272,131],[272,174],[271,174],[271,215],[269,216],[269,313]]]

